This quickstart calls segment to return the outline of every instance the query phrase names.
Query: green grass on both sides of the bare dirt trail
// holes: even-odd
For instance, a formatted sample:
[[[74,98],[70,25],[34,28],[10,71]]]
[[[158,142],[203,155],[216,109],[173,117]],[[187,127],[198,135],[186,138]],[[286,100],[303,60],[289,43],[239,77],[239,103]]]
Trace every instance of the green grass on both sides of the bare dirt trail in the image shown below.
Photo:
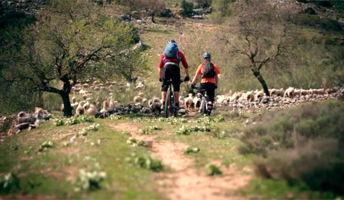
[[[137,116],[120,120],[96,119],[94,123],[101,125],[98,131],[88,131],[86,136],[76,137],[75,143],[67,147],[63,143],[69,141],[73,133],[92,123],[55,126],[52,122],[46,122],[37,130],[7,137],[0,146],[0,175],[14,173],[19,177],[21,186],[20,190],[13,189],[7,195],[1,194],[1,197],[16,198],[19,192],[24,192],[34,198],[164,199],[165,194],[157,190],[160,186],[154,181],[153,171],[126,162],[126,158],[132,153],[150,155],[151,149],[142,146],[132,147],[126,143],[128,135],[114,131],[109,126],[132,123],[139,129],[153,125],[162,127],[162,130],[152,130],[148,133],[154,136],[154,143],[171,141],[193,148],[199,147],[200,152],[184,154],[194,160],[192,168],[199,172],[205,172],[205,166],[216,161],[225,167],[235,164],[239,169],[238,173],[252,174],[253,179],[247,188],[228,191],[228,195],[237,194],[254,199],[336,198],[332,193],[314,191],[302,183],[292,185],[284,180],[259,179],[252,172],[240,171],[245,166],[252,168],[254,157],[252,154],[241,155],[237,151],[237,147],[242,144],[241,127],[261,120],[260,115],[266,112],[270,111],[261,109],[236,114],[229,111],[217,112],[225,116],[225,122],[211,124],[211,132],[193,131],[190,135],[178,135],[175,132],[182,125],[203,126],[202,123],[196,123],[193,118],[187,118],[184,123],[140,117],[142,121]],[[42,153],[37,152],[45,141],[52,141],[53,148],[47,148]],[[107,174],[105,180],[100,182],[101,188],[75,192],[73,180],[78,177],[79,169],[90,170],[96,163],[99,163],[101,171]],[[166,167],[162,173],[174,172]]]

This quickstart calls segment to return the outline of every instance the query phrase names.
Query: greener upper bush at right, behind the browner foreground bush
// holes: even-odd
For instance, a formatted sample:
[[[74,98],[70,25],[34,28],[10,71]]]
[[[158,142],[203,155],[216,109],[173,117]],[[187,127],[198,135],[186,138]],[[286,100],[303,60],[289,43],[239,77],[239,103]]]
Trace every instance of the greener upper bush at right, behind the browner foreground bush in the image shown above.
[[[316,137],[337,138],[344,147],[344,106],[308,103],[283,112],[263,116],[249,126],[241,138],[239,151],[267,155],[268,150],[293,148]]]

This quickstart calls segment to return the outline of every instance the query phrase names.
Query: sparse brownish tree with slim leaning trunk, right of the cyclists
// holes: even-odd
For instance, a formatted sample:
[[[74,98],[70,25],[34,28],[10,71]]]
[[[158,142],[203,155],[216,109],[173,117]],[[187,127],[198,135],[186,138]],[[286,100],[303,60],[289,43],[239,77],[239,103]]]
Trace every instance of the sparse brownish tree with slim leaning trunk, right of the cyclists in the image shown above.
[[[297,7],[292,2],[273,7],[268,1],[255,0],[239,0],[232,5],[232,16],[218,38],[235,58],[237,69],[253,73],[269,95],[261,70],[292,46],[291,17]]]

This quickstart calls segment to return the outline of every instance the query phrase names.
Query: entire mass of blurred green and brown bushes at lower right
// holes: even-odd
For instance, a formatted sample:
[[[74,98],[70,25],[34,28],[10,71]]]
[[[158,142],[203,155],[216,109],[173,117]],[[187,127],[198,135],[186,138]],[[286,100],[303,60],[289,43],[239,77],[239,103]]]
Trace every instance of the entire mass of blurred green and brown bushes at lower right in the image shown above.
[[[343,111],[329,101],[267,114],[244,131],[239,150],[263,156],[254,160],[261,177],[344,194]]]

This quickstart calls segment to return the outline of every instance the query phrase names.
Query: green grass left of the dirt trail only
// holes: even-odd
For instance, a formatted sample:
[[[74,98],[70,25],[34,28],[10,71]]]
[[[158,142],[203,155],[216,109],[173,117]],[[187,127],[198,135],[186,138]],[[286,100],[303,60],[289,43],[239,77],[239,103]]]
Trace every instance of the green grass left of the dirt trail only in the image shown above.
[[[104,123],[102,120],[96,122]],[[20,179],[20,191],[32,195],[54,195],[53,198],[58,199],[160,199],[163,197],[155,190],[156,185],[151,171],[130,166],[125,161],[125,158],[133,152],[147,154],[147,148],[133,148],[127,145],[127,136],[122,133],[103,125],[97,132],[89,131],[86,137],[77,137],[76,143],[69,147],[64,147],[63,142],[68,141],[72,136],[65,139],[57,138],[88,125],[89,123],[81,123],[57,127],[48,122],[38,130],[24,131],[7,137],[0,147],[1,175],[11,171]],[[53,141],[54,147],[43,153],[37,153],[38,147],[44,141]],[[92,146],[92,142],[96,145]],[[11,146],[17,144],[18,150],[10,150]],[[78,152],[73,152],[76,149]],[[25,154],[25,151],[28,153]],[[78,169],[92,168],[95,163],[99,163],[101,170],[107,173],[107,178],[101,182],[102,188],[92,192],[74,192],[72,181],[66,179],[70,176],[76,178]],[[8,198],[13,198],[14,193],[18,191],[12,192],[7,196]]]

